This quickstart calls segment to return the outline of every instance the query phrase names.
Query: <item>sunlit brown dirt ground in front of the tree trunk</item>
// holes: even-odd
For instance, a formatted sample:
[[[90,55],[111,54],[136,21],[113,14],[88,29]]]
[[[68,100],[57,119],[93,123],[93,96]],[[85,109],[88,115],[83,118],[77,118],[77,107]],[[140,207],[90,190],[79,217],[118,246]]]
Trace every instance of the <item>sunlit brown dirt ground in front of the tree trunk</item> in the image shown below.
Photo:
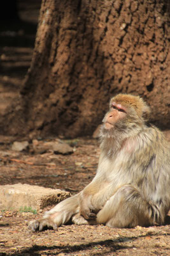
[[[74,195],[94,177],[99,157],[96,140],[66,141],[74,147],[68,156],[53,154],[45,145],[55,138],[29,141],[25,152],[11,150],[16,138],[1,138],[0,184],[27,183],[60,188]],[[36,146],[35,146],[36,145]],[[46,209],[45,209],[46,210]],[[27,221],[44,211],[0,212],[0,255],[169,255],[170,216],[160,227],[109,228],[66,225],[57,231],[33,233]]]

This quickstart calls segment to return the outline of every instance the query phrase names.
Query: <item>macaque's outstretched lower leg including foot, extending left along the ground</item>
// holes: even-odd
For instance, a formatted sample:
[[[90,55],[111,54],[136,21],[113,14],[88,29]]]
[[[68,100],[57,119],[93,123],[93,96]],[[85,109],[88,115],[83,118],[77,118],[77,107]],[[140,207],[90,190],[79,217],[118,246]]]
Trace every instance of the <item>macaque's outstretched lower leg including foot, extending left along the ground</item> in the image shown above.
[[[50,211],[45,212],[42,219],[30,221],[28,228],[32,231],[41,231],[44,227],[52,227],[53,230],[57,230],[57,227],[67,223],[74,214],[78,213],[80,208],[78,198],[79,194],[60,202]]]

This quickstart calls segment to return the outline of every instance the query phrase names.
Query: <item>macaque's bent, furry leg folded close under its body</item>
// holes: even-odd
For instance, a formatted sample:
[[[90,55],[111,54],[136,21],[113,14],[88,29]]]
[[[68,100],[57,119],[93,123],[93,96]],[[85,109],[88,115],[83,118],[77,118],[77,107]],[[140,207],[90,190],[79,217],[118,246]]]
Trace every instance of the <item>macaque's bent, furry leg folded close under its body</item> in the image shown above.
[[[153,225],[159,218],[159,209],[149,204],[131,185],[122,186],[97,214],[97,223],[109,227],[135,227]]]

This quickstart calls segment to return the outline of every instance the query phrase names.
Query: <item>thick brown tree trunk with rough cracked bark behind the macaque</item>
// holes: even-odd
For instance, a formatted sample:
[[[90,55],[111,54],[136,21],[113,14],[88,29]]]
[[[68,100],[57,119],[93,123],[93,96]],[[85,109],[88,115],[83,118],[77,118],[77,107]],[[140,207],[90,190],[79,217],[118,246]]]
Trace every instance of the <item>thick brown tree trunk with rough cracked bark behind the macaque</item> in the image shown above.
[[[169,0],[43,0],[22,90],[26,128],[15,118],[13,131],[92,134],[119,92],[143,96],[167,127],[169,17]]]

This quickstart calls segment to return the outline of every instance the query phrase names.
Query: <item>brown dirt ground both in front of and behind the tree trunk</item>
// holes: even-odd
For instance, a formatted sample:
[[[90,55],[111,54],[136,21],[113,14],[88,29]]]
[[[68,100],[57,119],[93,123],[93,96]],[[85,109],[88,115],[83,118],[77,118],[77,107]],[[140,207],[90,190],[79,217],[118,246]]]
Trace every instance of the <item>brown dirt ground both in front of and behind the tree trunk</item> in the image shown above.
[[[4,25],[0,31],[0,113],[8,111],[20,97],[19,90],[29,68],[34,47],[39,5],[29,10],[20,5],[21,24]],[[27,10],[27,11],[26,11]],[[29,23],[31,20],[32,23]],[[66,141],[74,147],[68,156],[53,154],[46,143],[56,138],[29,137],[24,152],[11,150],[13,141],[21,138],[0,136],[0,184],[27,183],[59,188],[73,195],[89,184],[94,177],[99,158],[99,143],[91,138]],[[4,255],[170,255],[170,216],[159,227],[109,228],[100,226],[66,225],[57,231],[33,233],[27,221],[39,218],[43,211],[5,210],[0,212],[0,256]]]

